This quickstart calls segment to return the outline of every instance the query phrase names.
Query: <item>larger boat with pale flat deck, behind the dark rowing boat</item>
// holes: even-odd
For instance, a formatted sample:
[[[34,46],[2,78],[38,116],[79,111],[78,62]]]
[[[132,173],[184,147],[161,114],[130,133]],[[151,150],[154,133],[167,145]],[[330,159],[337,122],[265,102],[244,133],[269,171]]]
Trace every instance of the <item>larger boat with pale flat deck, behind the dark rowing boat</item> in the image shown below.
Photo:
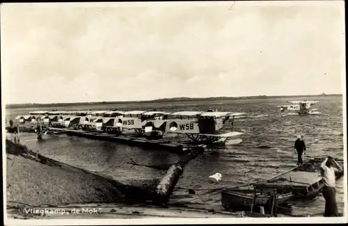
[[[324,159],[312,159],[302,166],[278,175],[267,181],[253,184],[254,188],[277,189],[278,193],[291,192],[294,197],[314,198],[322,191],[324,186],[322,176],[319,174],[319,166]],[[343,168],[343,161],[335,159]],[[342,177],[343,171],[336,173],[336,180]]]

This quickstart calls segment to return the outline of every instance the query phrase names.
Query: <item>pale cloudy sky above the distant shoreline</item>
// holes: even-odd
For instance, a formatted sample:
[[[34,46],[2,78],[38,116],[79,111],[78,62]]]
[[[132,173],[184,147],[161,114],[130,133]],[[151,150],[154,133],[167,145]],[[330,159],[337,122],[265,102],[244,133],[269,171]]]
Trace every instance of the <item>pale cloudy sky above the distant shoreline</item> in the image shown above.
[[[345,92],[344,1],[4,3],[3,102]]]

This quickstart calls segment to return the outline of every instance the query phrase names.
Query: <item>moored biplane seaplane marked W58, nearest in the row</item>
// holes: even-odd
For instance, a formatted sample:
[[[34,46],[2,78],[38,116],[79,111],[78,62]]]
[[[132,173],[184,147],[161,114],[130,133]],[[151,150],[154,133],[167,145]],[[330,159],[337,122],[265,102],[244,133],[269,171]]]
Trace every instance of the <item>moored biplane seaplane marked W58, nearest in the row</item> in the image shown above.
[[[233,131],[235,116],[244,115],[237,112],[217,111],[180,111],[172,113],[176,118],[167,120],[149,120],[144,125],[145,132],[158,131],[163,136],[165,133],[186,134],[194,145],[226,145],[228,138],[240,136],[244,133]],[[228,119],[232,117],[232,128],[228,133],[220,130]],[[233,144],[242,140],[232,140]]]

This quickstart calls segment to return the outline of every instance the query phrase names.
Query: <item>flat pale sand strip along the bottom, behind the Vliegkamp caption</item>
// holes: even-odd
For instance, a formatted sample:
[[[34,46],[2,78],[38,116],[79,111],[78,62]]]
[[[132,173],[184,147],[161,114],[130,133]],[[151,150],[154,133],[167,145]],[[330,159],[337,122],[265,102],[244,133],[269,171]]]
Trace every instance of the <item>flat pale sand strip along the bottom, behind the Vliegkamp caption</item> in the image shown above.
[[[216,213],[200,209],[180,207],[150,207],[124,204],[69,204],[56,207],[10,207],[8,218],[56,219],[56,218],[228,218],[244,217],[243,213]]]

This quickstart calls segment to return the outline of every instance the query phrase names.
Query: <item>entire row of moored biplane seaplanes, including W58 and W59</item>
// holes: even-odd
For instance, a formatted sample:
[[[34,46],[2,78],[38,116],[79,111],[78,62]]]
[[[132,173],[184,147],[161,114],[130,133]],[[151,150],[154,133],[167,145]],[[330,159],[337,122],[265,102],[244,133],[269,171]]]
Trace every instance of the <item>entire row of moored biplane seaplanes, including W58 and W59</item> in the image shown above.
[[[164,134],[186,134],[191,144],[226,144],[228,138],[244,133],[233,131],[236,116],[245,113],[219,111],[33,111],[17,116],[17,124],[37,123],[45,128],[63,127],[85,131],[102,131],[119,136],[134,131],[137,136],[163,138]],[[231,121],[231,131],[221,132]],[[148,136],[150,134],[150,136]],[[240,143],[241,139],[231,143]]]

